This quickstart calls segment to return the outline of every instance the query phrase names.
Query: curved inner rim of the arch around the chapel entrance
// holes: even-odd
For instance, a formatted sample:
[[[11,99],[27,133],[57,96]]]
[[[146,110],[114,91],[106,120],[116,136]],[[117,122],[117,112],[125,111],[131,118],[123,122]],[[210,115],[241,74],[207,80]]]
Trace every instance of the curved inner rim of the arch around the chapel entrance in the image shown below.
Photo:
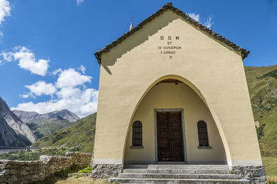
[[[143,99],[148,94],[148,92],[150,92],[150,90],[155,85],[157,85],[157,83],[160,83],[161,81],[165,81],[165,80],[170,80],[170,79],[178,80],[178,81],[181,81],[182,83],[184,83],[186,86],[188,86],[190,88],[190,90],[193,90],[193,92],[195,92],[195,94],[197,94],[199,99],[201,99],[202,102],[206,105],[206,108],[208,109],[209,113],[211,113],[212,119],[215,123],[215,127],[217,128],[217,131],[218,131],[218,134],[219,134],[219,139],[221,139],[221,141],[222,141],[222,145],[223,145],[222,147],[224,147],[222,149],[224,149],[224,152],[226,154],[226,162],[228,163],[228,165],[231,165],[231,156],[230,156],[230,152],[229,152],[229,147],[228,147],[228,144],[226,142],[226,138],[224,136],[224,132],[222,130],[222,127],[220,125],[220,121],[218,120],[217,115],[213,111],[213,108],[208,103],[208,100],[205,98],[204,94],[199,90],[199,88],[197,88],[195,85],[193,85],[193,83],[191,83],[187,79],[184,79],[183,77],[177,76],[177,75],[168,75],[168,76],[163,76],[163,77],[157,79],[156,81],[152,82],[151,85],[148,87],[148,89],[146,89],[145,92],[141,95],[141,99],[139,99],[138,103],[136,103],[136,108],[134,109],[134,111],[132,113],[132,117],[130,117],[130,119],[129,119],[129,128],[128,128],[128,132],[125,136],[125,145],[124,145],[125,148],[123,149],[124,150],[123,151],[123,160],[125,161],[127,159],[127,158],[125,158],[125,156],[126,156],[125,152],[126,152],[126,144],[127,144],[127,140],[128,140],[128,136],[129,136],[129,131],[132,130],[132,123],[133,123],[132,121],[134,121],[134,114],[136,114],[136,111],[138,110],[139,105],[141,104],[141,101],[143,101]],[[185,111],[184,116],[186,116],[186,110],[184,110],[184,111]],[[199,119],[199,120],[202,120],[202,119]],[[157,131],[157,130],[155,130],[155,131]],[[187,140],[187,142],[188,142],[188,140]],[[186,141],[185,141],[185,143],[186,143]],[[136,152],[136,150],[134,149],[134,150],[132,150],[132,152]]]

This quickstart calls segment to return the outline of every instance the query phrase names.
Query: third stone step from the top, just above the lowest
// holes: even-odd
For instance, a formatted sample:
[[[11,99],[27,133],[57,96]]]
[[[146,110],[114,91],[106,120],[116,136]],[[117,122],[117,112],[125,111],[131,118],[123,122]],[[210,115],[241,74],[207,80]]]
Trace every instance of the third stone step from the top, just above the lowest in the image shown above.
[[[118,178],[189,178],[189,179],[238,179],[236,174],[148,174],[120,173]]]

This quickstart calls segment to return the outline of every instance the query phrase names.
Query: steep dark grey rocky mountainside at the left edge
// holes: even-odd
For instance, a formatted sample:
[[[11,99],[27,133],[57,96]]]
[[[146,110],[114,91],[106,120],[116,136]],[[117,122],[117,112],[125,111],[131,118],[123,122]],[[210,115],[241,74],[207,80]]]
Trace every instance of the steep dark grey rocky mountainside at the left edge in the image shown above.
[[[0,145],[23,147],[35,142],[35,136],[0,97]]]

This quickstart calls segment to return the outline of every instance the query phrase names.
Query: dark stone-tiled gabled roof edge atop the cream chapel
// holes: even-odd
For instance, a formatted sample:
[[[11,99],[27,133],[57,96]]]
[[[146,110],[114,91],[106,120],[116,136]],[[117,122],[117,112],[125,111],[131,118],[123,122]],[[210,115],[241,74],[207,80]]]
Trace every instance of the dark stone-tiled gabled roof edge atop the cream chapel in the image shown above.
[[[137,30],[140,30],[141,28],[143,28],[143,25],[145,25],[145,23],[148,23],[148,22],[152,21],[155,17],[158,17],[160,14],[162,14],[166,10],[172,10],[172,12],[175,12],[179,16],[183,17],[188,23],[190,23],[190,24],[194,25],[195,27],[199,28],[200,30],[203,30],[204,32],[210,34],[213,38],[215,38],[218,41],[228,45],[231,48],[233,48],[233,50],[240,51],[241,54],[242,54],[242,60],[244,58],[246,58],[247,55],[250,53],[250,51],[247,51],[246,49],[241,48],[239,45],[236,45],[232,41],[229,41],[229,39],[226,39],[226,38],[222,37],[220,34],[217,34],[213,30],[207,28],[205,25],[202,25],[201,23],[195,21],[193,18],[189,17],[187,14],[185,14],[184,12],[179,10],[178,8],[175,8],[174,6],[172,6],[172,3],[167,3],[161,9],[159,9],[157,12],[152,14],[150,17],[148,17],[147,19],[145,19],[144,21],[142,21],[141,23],[136,25],[135,28],[133,28],[132,30],[129,30],[128,32],[123,34],[121,37],[116,39],[115,41],[109,43],[109,45],[105,46],[105,48],[102,48],[101,50],[98,50],[94,54],[96,59],[98,60],[98,63],[99,64],[101,63],[101,54],[102,54],[102,52],[109,52],[109,50],[111,48],[114,48],[118,43],[121,43],[123,40],[125,40],[127,37],[129,37],[129,35],[134,34]]]

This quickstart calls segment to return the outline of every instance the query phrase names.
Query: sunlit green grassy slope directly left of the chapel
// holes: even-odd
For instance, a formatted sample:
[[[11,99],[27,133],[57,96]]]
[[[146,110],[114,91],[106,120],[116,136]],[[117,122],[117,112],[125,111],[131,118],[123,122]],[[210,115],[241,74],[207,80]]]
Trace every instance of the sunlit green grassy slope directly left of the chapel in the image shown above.
[[[71,125],[46,135],[33,144],[33,147],[68,147],[80,152],[91,153],[94,144],[96,113],[84,117]]]

